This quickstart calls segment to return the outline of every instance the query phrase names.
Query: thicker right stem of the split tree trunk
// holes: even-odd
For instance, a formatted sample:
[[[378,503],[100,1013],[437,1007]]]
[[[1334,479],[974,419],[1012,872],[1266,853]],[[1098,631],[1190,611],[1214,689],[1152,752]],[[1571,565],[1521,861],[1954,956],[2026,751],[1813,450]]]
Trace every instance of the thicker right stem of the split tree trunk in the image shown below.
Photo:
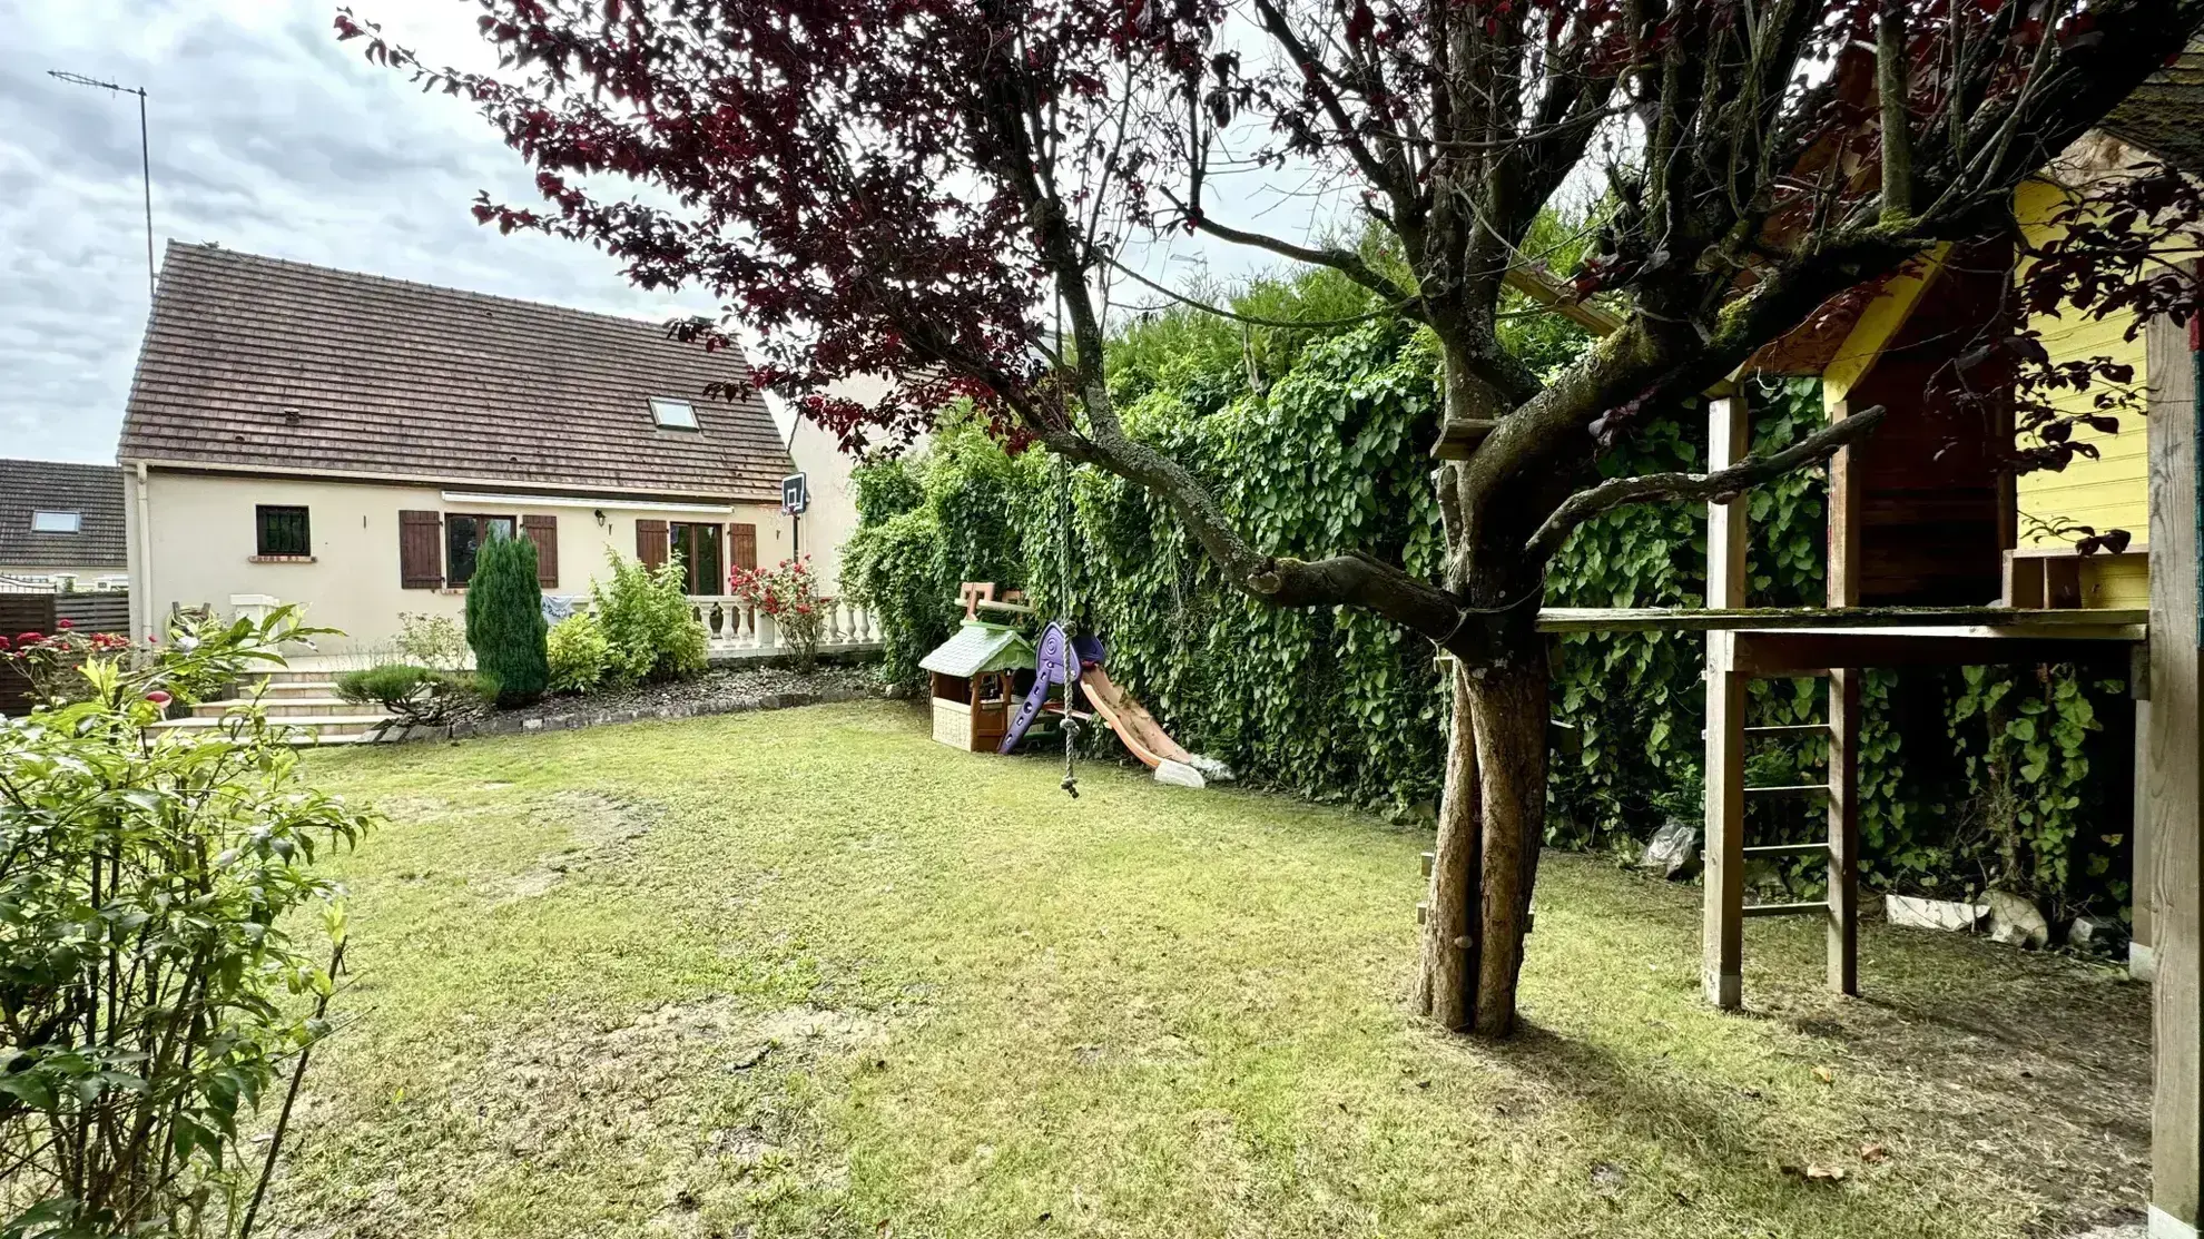
[[[1485,820],[1470,1027],[1483,1036],[1514,1030],[1530,891],[1545,842],[1545,639],[1530,637],[1523,646],[1466,675]]]

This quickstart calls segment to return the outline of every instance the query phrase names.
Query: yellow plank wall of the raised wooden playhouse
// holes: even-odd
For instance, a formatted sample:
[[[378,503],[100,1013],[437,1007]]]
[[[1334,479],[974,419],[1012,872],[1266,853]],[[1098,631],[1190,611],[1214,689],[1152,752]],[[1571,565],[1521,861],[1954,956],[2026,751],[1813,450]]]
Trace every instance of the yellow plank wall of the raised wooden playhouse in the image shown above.
[[[2048,181],[2030,181],[2014,194],[2014,214],[2030,243],[2041,243],[2054,234],[2052,218],[2067,203],[2067,192]],[[2136,388],[2144,390],[2149,373],[2144,366],[2142,335],[2122,340],[2129,317],[2092,320],[2081,311],[2065,315],[2034,315],[2030,320],[2043,335],[2043,348],[2054,362],[2081,357],[2111,357],[2136,368]],[[2059,392],[2052,403],[2061,410],[2083,412],[2096,392]],[[2142,547],[2151,531],[2149,470],[2144,463],[2144,425],[2138,414],[2120,417],[2118,434],[2076,430],[2078,441],[2094,443],[2100,459],[2076,456],[2065,472],[2021,474],[2014,481],[2021,525],[2021,547],[2059,547],[2072,538],[2054,538],[2034,527],[2034,520],[2059,525],[2089,525],[2092,529],[2127,529],[2133,547]],[[2100,580],[2089,589],[2092,573]],[[2140,560],[2103,562],[2083,567],[2083,591],[2089,606],[2144,606],[2149,602],[2149,575]]]

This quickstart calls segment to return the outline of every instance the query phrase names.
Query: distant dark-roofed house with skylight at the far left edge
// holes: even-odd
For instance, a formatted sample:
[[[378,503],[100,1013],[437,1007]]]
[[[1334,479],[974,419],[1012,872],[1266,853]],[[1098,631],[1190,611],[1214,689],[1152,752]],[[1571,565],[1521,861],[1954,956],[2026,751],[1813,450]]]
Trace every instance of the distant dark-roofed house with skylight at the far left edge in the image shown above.
[[[128,571],[121,470],[0,461],[0,582],[95,589]]]

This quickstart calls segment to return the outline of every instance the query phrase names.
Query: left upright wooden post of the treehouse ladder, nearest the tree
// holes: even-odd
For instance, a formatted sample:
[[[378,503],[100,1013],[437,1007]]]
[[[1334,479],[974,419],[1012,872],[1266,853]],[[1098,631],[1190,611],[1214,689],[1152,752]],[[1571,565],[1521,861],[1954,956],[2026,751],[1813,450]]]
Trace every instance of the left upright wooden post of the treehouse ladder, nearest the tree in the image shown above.
[[[1708,470],[1726,470],[1752,450],[1752,410],[1743,392],[1706,406]],[[1706,604],[1746,606],[1743,503],[1706,505]],[[1545,615],[1541,613],[1541,626]],[[1746,677],[1735,668],[1728,631],[1706,637],[1706,877],[1699,930],[1699,983],[1724,1010],[1743,1003],[1746,957]]]

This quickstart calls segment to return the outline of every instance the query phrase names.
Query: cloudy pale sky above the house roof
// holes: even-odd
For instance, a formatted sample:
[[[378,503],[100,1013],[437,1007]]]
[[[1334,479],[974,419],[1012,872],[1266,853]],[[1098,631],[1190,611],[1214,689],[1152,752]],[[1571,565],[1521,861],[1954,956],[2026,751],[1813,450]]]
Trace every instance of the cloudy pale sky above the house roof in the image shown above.
[[[350,2],[423,60],[494,66],[472,2]],[[0,0],[0,456],[112,461],[145,328],[137,99],[53,68],[152,93],[156,249],[212,240],[635,317],[712,309],[635,291],[586,247],[478,227],[478,190],[533,198],[520,159],[465,104],[337,44],[335,9]],[[1142,265],[1184,276],[1195,258],[1230,276],[1258,262],[1225,249]]]

